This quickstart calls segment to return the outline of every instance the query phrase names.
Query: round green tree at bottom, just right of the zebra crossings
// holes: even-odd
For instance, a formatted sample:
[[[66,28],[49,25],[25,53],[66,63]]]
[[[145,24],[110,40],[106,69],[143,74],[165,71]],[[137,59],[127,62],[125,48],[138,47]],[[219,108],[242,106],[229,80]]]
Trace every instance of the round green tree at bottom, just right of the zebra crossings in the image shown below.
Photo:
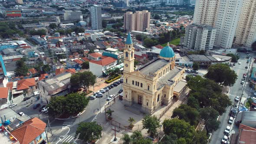
[[[96,121],[81,122],[76,128],[75,137],[79,135],[78,139],[94,144],[98,139],[102,137],[102,129],[103,128],[98,125]]]

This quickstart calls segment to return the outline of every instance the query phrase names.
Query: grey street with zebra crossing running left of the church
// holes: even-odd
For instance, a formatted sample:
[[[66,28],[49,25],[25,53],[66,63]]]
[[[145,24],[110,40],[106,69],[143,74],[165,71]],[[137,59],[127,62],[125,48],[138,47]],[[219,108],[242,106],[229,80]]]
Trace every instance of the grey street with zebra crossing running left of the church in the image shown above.
[[[78,126],[78,124],[80,122],[89,122],[92,121],[96,118],[97,114],[98,114],[98,110],[102,109],[101,112],[105,112],[104,111],[104,105],[106,105],[108,103],[108,101],[106,101],[107,99],[107,95],[112,95],[112,94],[117,94],[118,91],[121,89],[121,84],[118,85],[117,87],[111,88],[111,90],[106,93],[103,94],[102,98],[95,98],[94,100],[90,100],[89,105],[86,107],[85,112],[80,115],[78,118],[71,118],[68,120],[55,120],[51,123],[51,127],[58,127],[58,126],[67,126],[70,128],[70,131],[67,135],[65,135],[64,137],[60,137],[60,141],[54,141],[53,144],[62,144],[62,142],[73,142],[74,139],[74,135],[75,135],[75,131],[76,128]],[[72,139],[72,140],[71,140]]]

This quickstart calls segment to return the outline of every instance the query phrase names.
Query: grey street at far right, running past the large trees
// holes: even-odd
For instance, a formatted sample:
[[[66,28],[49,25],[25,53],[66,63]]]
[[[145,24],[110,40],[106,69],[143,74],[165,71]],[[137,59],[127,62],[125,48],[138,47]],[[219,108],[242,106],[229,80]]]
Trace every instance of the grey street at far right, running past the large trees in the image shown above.
[[[234,105],[235,101],[234,99],[236,98],[236,96],[240,96],[242,95],[242,90],[243,90],[243,85],[241,84],[242,81],[242,77],[243,74],[246,73],[246,69],[245,67],[248,66],[249,64],[246,63],[246,55],[245,53],[239,53],[240,54],[240,59],[238,60],[238,62],[241,62],[241,64],[238,64],[238,62],[236,62],[236,65],[233,65],[232,69],[236,72],[236,74],[238,75],[236,83],[233,85],[233,87],[230,87],[230,92],[229,92],[229,98],[230,100],[233,102],[232,105]],[[251,54],[252,55],[252,54]],[[252,59],[254,59],[254,56],[252,56]],[[233,63],[233,62],[232,62]],[[248,77],[249,75],[247,75]],[[245,85],[247,85],[249,82],[246,81]],[[249,91],[244,91],[243,92],[243,97],[247,97],[248,95],[250,95],[251,92]],[[221,143],[221,139],[224,135],[224,130],[226,128],[227,125],[230,126],[230,124],[227,123],[228,119],[229,119],[229,112],[230,112],[230,107],[226,108],[226,112],[223,113],[223,115],[221,115],[219,117],[219,121],[220,123],[220,128],[217,131],[214,131],[213,134],[210,137],[210,144],[220,144]],[[234,125],[234,127],[236,127]]]

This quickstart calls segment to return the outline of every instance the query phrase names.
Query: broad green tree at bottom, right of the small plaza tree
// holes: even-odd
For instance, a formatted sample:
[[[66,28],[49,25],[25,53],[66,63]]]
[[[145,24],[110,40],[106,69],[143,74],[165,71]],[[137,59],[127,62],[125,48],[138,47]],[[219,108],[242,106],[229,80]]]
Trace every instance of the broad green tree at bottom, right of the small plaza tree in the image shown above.
[[[184,137],[187,141],[190,141],[195,133],[194,128],[188,122],[177,118],[165,119],[163,128],[164,134],[175,134],[178,139]]]

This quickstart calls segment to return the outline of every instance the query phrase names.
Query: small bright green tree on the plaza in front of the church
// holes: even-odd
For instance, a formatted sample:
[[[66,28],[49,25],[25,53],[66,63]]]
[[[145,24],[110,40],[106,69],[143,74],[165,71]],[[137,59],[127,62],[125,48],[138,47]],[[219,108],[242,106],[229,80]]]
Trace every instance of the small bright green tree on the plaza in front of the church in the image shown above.
[[[157,128],[160,128],[160,122],[159,119],[155,116],[149,116],[146,115],[142,119],[143,128],[148,129],[148,134],[150,134],[151,137],[154,137],[157,133]]]

